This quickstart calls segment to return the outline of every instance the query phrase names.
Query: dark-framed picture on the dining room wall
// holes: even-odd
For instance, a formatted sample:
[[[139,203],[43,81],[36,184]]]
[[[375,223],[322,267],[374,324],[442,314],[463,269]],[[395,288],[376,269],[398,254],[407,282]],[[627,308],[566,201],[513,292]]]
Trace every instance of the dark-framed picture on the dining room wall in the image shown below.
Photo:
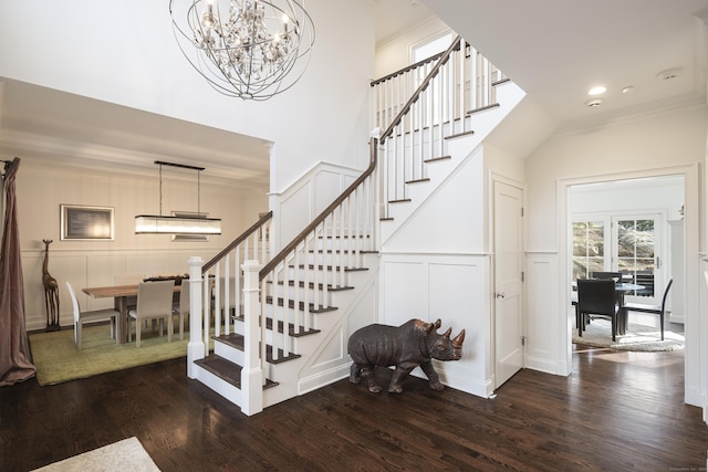
[[[113,207],[60,204],[62,241],[114,241]]]

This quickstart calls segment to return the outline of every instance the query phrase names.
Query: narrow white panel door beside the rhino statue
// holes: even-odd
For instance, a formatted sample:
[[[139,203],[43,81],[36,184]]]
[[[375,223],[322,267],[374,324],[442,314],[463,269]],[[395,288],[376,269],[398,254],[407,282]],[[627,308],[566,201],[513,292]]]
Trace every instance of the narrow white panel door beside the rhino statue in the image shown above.
[[[494,388],[523,367],[523,191],[494,186]]]

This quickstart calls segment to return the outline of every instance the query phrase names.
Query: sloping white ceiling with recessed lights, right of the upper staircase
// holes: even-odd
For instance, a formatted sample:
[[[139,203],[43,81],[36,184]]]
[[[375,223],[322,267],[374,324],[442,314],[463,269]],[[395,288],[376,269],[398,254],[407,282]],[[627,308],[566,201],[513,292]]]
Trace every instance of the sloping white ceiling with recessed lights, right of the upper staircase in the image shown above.
[[[554,125],[705,103],[706,33],[697,13],[708,21],[708,0],[420,1]],[[665,80],[664,71],[677,73]],[[607,91],[591,108],[587,91],[595,85]]]

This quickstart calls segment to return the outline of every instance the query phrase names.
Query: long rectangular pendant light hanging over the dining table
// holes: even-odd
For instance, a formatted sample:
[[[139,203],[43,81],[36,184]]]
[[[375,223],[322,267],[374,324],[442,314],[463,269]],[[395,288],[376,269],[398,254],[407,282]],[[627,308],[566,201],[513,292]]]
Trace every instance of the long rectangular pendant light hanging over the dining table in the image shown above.
[[[204,167],[162,160],[156,160],[155,164],[159,165],[159,216],[137,214],[135,217],[135,234],[221,234],[221,220],[204,218],[199,208],[201,203],[199,172],[204,170]],[[181,167],[197,171],[197,213],[195,217],[163,217],[163,166]]]

